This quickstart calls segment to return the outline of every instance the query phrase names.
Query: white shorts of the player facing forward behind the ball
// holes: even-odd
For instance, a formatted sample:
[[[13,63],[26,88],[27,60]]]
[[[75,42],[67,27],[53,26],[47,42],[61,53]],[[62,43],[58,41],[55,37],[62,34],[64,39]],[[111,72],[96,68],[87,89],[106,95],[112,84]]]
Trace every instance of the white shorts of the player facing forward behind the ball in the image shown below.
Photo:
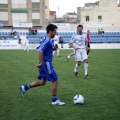
[[[76,61],[83,61],[88,59],[87,52],[85,48],[80,48],[75,50]]]

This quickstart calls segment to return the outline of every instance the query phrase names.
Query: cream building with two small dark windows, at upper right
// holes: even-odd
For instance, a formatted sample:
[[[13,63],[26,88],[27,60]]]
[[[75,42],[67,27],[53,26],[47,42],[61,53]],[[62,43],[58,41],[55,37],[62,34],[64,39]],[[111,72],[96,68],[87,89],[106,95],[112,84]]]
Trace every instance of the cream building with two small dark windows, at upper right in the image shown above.
[[[118,0],[99,0],[77,8],[78,21],[85,27],[120,28]]]

